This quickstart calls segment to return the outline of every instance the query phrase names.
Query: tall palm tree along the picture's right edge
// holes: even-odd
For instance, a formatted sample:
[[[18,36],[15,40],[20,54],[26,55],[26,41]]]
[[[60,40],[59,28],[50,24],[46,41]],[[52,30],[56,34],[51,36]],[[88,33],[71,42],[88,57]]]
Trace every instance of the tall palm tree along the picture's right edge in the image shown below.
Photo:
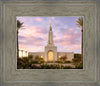
[[[83,18],[82,17],[79,17],[76,22],[77,22],[77,25],[79,27],[81,27],[81,32],[82,32],[82,46],[81,46],[82,47],[81,48],[82,56],[81,56],[81,61],[83,61]]]

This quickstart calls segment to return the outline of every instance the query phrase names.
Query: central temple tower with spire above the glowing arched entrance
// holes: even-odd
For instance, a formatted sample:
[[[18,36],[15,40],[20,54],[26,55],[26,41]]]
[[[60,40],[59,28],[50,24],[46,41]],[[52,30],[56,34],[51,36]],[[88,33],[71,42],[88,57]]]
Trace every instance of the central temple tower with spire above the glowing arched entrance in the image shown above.
[[[50,22],[48,44],[45,46],[45,61],[57,61],[57,47],[54,46],[53,31]]]

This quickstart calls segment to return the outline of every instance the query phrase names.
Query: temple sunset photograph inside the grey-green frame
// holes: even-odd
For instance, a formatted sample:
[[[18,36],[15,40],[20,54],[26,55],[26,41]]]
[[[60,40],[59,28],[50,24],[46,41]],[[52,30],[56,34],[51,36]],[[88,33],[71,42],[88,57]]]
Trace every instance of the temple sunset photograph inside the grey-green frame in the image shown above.
[[[17,69],[83,69],[83,17],[17,17],[17,28]]]

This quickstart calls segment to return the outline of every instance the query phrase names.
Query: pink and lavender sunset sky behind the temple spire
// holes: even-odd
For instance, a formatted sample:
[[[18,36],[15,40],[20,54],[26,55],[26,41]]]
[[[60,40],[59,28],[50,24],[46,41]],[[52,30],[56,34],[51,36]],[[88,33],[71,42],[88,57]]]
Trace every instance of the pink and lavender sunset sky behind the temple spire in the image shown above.
[[[58,52],[81,53],[81,28],[79,17],[17,17],[23,22],[19,29],[19,49],[28,52],[44,51],[48,42],[50,21],[52,22],[54,45]]]

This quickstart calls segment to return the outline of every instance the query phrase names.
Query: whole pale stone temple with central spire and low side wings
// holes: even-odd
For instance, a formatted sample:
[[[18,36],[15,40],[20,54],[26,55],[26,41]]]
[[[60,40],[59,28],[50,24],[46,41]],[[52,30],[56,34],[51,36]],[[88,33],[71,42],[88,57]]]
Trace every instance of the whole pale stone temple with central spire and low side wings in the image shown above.
[[[49,27],[48,43],[47,46],[45,46],[44,52],[29,52],[28,55],[32,55],[33,59],[35,58],[35,56],[39,56],[46,62],[58,61],[61,56],[66,56],[66,61],[72,61],[72,59],[74,58],[73,52],[57,52],[57,46],[54,45],[51,22]]]

